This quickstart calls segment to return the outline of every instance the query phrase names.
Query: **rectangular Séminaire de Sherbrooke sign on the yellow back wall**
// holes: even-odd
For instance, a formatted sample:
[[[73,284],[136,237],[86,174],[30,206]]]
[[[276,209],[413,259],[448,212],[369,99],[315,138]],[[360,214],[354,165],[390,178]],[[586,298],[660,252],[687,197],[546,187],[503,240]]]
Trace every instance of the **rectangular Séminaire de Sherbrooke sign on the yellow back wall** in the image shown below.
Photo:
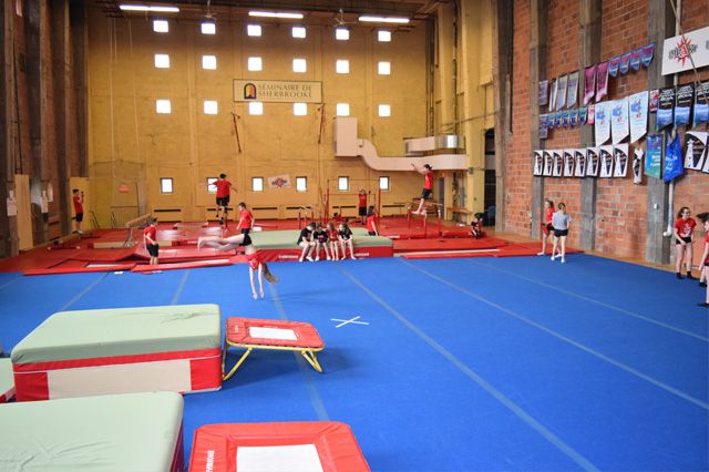
[[[234,79],[234,101],[322,103],[322,82]]]

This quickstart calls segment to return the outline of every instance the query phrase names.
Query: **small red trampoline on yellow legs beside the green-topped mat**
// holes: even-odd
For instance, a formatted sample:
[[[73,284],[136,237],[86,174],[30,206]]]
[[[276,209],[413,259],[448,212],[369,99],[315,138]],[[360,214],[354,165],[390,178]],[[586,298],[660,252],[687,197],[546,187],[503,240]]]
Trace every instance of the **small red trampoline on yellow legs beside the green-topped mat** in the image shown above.
[[[244,348],[246,351],[232,370],[226,372],[226,351],[229,346]],[[317,353],[325,349],[325,343],[309,322],[232,317],[226,320],[224,334],[222,355],[224,380],[234,376],[236,369],[244,363],[254,349],[299,351],[315,370],[322,372]]]

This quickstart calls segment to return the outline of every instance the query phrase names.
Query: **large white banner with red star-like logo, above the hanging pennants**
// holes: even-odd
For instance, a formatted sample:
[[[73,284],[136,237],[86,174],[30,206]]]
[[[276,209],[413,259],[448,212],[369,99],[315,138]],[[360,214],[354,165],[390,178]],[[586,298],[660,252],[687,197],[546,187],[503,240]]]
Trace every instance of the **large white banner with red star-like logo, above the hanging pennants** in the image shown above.
[[[689,55],[691,54],[691,60]],[[709,27],[668,38],[662,43],[662,75],[709,65]]]

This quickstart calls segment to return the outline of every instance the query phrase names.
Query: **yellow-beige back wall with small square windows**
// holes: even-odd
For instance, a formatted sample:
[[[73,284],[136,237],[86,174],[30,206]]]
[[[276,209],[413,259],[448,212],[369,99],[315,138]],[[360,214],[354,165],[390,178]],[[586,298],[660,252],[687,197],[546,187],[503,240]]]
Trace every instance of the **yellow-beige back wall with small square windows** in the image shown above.
[[[102,225],[112,207],[126,202],[138,211],[175,208],[163,218],[213,216],[214,195],[201,184],[220,172],[238,189],[233,199],[255,207],[277,206],[261,217],[292,216],[282,207],[317,204],[328,179],[349,176],[351,191],[376,193],[380,175],[391,191],[383,204],[408,201],[420,193],[422,177],[413,172],[378,173],[360,158],[333,156],[332,119],[338,102],[350,103],[359,119],[358,134],[371,140],[380,155],[402,155],[403,137],[425,134],[425,31],[394,32],[380,43],[376,30],[352,28],[350,41],[336,41],[330,27],[308,27],[305,40],[291,38],[287,25],[263,24],[263,37],[248,38],[245,23],[219,21],[217,34],[202,35],[198,24],[171,21],[169,33],[152,31],[144,18],[110,19],[90,11],[89,30],[89,161],[92,208]],[[169,54],[171,68],[156,69],[154,54]],[[202,55],[217,57],[217,70],[202,69]],[[247,58],[263,58],[261,72],[246,70]],[[305,58],[307,73],[294,73],[291,60]],[[336,59],[350,61],[350,73],[335,73]],[[391,62],[391,75],[378,75],[377,62]],[[264,115],[251,116],[246,104],[233,103],[233,79],[321,81],[322,106],[308,104],[307,116],[294,116],[290,103],[265,103]],[[156,114],[155,100],[169,99],[172,114]],[[203,113],[203,101],[216,100],[217,115]],[[391,105],[390,117],[377,115]],[[230,112],[237,120],[242,152]],[[254,193],[251,177],[288,174],[308,177],[308,192],[271,189]],[[174,193],[162,195],[161,177],[172,177]],[[131,192],[116,193],[130,184]],[[330,189],[335,191],[335,183]],[[356,196],[332,197],[333,204],[356,205]],[[257,217],[259,216],[257,212]]]

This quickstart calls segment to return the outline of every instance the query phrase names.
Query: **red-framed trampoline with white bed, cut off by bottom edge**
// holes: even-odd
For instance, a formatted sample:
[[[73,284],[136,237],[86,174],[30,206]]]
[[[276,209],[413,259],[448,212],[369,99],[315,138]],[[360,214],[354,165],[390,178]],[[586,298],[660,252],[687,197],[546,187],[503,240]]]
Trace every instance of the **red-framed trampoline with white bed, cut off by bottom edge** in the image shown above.
[[[336,421],[197,428],[189,471],[369,471],[349,425]]]

